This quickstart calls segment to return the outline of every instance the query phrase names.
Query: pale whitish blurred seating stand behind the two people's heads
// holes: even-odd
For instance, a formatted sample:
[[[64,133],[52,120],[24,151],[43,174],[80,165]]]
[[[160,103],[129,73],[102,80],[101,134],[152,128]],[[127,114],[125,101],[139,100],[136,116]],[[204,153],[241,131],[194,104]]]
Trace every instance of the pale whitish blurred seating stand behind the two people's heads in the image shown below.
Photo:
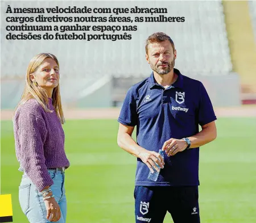
[[[59,4],[55,3],[56,5]],[[36,4],[37,7],[54,6],[49,2],[38,1]],[[68,6],[68,4],[65,3],[64,5]],[[77,7],[85,5],[84,2],[74,2],[72,4]],[[134,3],[129,4],[130,7],[134,6]],[[90,2],[86,5],[92,7]],[[109,7],[108,3],[93,3],[93,7],[104,7],[104,5]],[[136,5],[147,7],[147,2],[138,2]],[[16,2],[15,6],[35,7],[35,4]],[[112,2],[112,7],[115,6],[120,7],[120,2]],[[127,7],[127,3],[125,6]],[[154,2],[151,7],[161,7],[161,3]],[[84,77],[84,75],[90,73],[94,75],[105,73],[116,77],[140,74],[147,76],[148,66],[144,62],[144,41],[148,35],[156,31],[166,32],[174,39],[179,54],[176,65],[182,68],[183,71],[205,74],[209,72],[213,75],[219,75],[220,72],[227,73],[232,70],[224,14],[220,1],[209,1],[204,4],[197,1],[186,2],[185,4],[183,2],[168,2],[165,7],[168,8],[168,14],[165,16],[184,16],[185,22],[148,23],[148,26],[145,26],[145,23],[142,25],[137,23],[138,31],[133,32],[131,41],[94,41],[93,43],[86,43],[82,40],[8,41],[5,40],[7,31],[2,31],[2,52],[5,55],[5,60],[2,62],[6,68],[2,77],[22,76],[29,56],[43,51],[57,54],[60,61],[63,61],[61,70],[64,75],[72,73],[77,77]],[[2,8],[6,9],[7,7],[3,6]],[[16,14],[9,14],[9,16],[16,16]],[[35,16],[35,14],[23,14],[23,16]],[[130,14],[129,16],[133,15]],[[106,23],[106,25],[108,24],[110,23]],[[24,31],[23,33],[27,32]],[[102,49],[104,53],[102,53]],[[23,56],[20,57],[20,54]]]

